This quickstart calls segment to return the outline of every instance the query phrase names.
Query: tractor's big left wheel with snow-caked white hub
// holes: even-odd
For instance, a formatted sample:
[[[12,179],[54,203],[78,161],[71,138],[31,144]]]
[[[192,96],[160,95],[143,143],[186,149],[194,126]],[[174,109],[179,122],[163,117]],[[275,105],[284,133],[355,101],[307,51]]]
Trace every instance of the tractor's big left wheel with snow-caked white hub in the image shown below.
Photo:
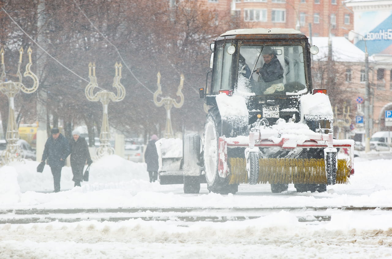
[[[218,172],[218,151],[220,137],[220,117],[210,113],[207,116],[204,129],[204,165],[207,188],[210,192],[219,194],[233,193],[229,178],[222,178]],[[235,193],[235,192],[234,192]]]

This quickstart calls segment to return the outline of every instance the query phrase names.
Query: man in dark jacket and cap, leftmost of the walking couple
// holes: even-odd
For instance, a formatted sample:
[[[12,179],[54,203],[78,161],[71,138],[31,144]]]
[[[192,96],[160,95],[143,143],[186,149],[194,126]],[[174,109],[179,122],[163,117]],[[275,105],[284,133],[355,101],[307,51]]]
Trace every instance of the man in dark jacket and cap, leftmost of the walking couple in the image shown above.
[[[48,160],[47,164],[49,164],[53,174],[54,192],[59,192],[61,169],[71,150],[67,138],[60,133],[58,128],[53,128],[51,133],[52,137],[48,138],[45,143],[42,162]]]

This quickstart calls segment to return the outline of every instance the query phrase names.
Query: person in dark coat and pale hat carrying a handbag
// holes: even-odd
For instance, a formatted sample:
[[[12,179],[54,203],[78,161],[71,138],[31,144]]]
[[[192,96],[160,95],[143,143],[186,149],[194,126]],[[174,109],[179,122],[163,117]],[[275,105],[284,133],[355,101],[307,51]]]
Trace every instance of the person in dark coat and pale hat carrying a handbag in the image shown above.
[[[83,181],[83,169],[84,165],[91,165],[89,147],[83,137],[80,137],[80,133],[77,130],[72,131],[73,140],[71,140],[71,168],[73,173],[72,180],[75,182],[75,186],[80,186],[80,182]]]

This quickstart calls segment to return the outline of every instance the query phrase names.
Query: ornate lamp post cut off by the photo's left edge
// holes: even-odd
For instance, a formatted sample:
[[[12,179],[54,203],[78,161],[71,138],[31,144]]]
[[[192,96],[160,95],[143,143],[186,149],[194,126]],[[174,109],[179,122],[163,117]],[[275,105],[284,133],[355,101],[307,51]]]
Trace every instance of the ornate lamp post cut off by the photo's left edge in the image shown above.
[[[13,161],[20,161],[24,158],[24,154],[22,150],[19,148],[18,140],[19,140],[19,131],[18,125],[15,119],[15,95],[18,94],[20,90],[26,94],[31,94],[35,92],[38,88],[38,77],[31,72],[30,67],[33,64],[31,62],[31,48],[27,49],[27,53],[29,54],[29,63],[26,64],[25,72],[23,74],[24,77],[31,77],[33,79],[33,86],[26,87],[22,83],[22,74],[20,72],[20,65],[22,64],[22,56],[23,56],[23,48],[19,50],[19,62],[18,62],[18,70],[16,71],[16,76],[18,77],[17,82],[13,82],[7,79],[7,75],[5,74],[5,65],[4,65],[4,49],[0,50],[1,55],[1,67],[2,73],[0,76],[0,90],[3,94],[8,97],[8,122],[7,122],[7,133],[5,134],[5,139],[7,140],[7,147],[2,152],[2,164],[7,165]]]

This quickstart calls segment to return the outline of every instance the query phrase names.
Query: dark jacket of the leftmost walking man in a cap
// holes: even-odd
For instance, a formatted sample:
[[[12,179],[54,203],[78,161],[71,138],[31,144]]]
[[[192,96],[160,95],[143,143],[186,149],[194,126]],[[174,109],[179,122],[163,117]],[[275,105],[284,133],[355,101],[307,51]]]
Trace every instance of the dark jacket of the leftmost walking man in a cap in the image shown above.
[[[50,167],[63,167],[65,159],[71,153],[71,147],[67,138],[61,133],[57,139],[49,137],[45,143],[44,154],[42,154],[42,160],[48,160]],[[63,160],[61,160],[61,158]]]

